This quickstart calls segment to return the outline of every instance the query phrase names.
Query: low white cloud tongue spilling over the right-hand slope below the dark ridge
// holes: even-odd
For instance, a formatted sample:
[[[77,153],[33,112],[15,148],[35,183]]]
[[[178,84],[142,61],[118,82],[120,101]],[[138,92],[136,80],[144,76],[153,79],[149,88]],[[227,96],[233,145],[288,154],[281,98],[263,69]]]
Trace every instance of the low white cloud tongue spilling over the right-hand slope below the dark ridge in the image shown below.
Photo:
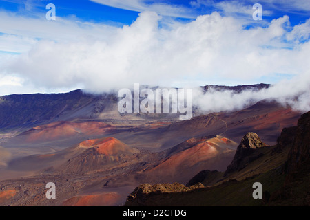
[[[310,110],[310,72],[292,80],[282,80],[268,89],[260,91],[242,91],[240,94],[225,90],[211,90],[203,93],[200,89],[194,92],[194,104],[201,112],[237,111],[255,104],[260,100],[276,100],[295,111]]]

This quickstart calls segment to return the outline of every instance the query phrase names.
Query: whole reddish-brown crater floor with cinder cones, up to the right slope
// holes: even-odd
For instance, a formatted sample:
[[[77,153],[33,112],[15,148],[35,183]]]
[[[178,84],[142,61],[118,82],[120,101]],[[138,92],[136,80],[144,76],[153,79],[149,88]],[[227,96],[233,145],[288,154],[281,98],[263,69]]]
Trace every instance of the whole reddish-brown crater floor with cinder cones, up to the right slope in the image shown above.
[[[186,184],[201,170],[225,171],[245,133],[258,133],[262,142],[271,145],[299,117],[300,113],[279,104],[258,102],[241,111],[182,122],[37,126],[1,140],[0,188],[5,189],[0,190],[0,205],[114,206],[125,201],[118,191],[121,187]],[[56,183],[59,200],[46,200],[49,181]]]

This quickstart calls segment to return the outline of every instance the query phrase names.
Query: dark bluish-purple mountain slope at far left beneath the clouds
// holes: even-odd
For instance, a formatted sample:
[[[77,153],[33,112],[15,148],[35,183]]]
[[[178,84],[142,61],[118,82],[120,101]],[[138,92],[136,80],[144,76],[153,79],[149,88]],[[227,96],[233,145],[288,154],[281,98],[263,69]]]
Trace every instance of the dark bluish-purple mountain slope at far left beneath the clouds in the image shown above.
[[[0,97],[0,129],[31,127],[68,118],[79,109],[93,104],[99,97],[81,90],[67,94],[25,94]],[[89,117],[92,115],[89,112]]]

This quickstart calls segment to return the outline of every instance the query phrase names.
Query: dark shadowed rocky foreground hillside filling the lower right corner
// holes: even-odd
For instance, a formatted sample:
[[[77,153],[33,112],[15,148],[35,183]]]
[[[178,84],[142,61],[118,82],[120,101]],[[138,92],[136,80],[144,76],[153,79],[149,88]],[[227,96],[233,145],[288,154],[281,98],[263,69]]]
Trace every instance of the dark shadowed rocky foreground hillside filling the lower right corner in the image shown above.
[[[291,131],[291,132],[289,132]],[[283,129],[275,146],[247,133],[225,173],[205,170],[187,186],[138,186],[125,206],[310,206],[310,112]],[[255,182],[263,198],[254,199]]]

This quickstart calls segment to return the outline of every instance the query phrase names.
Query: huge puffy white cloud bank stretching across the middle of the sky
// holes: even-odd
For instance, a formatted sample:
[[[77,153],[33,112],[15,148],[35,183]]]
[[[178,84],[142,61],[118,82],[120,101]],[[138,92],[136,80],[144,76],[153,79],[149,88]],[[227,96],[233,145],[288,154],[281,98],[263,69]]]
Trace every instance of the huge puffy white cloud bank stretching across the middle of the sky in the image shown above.
[[[30,52],[8,63],[8,71],[47,87],[83,83],[87,89],[101,91],[185,77],[206,80],[214,74],[251,80],[273,73],[299,74],[309,67],[296,65],[296,58],[304,60],[299,55],[307,53],[304,47],[280,47],[288,17],[273,20],[268,28],[251,30],[218,13],[187,24],[174,23],[171,30],[158,28],[160,19],[154,12],[144,12],[110,39],[97,39],[90,31],[94,39],[39,41]]]

